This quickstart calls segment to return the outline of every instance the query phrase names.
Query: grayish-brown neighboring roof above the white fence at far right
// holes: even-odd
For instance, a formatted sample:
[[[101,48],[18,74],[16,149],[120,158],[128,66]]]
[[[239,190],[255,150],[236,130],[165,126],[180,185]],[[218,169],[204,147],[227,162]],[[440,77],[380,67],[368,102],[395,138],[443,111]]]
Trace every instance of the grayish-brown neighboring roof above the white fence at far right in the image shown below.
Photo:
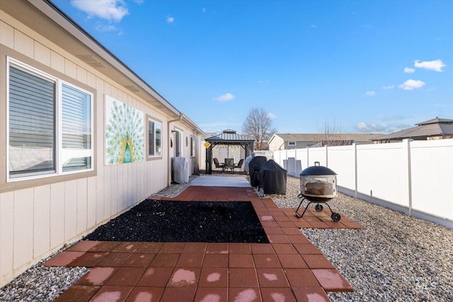
[[[402,139],[425,139],[427,137],[440,137],[453,135],[453,120],[435,119],[415,124],[415,127],[375,137],[373,141],[397,141]]]

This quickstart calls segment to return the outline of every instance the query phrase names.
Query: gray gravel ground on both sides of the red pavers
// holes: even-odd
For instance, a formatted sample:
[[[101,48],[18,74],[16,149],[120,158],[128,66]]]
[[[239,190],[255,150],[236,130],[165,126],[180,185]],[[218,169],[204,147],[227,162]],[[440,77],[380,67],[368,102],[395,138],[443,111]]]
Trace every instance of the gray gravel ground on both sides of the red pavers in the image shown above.
[[[187,186],[171,185],[159,196],[176,196]],[[297,194],[299,179],[288,177],[286,197],[266,197],[279,207],[297,207]],[[331,301],[453,301],[453,230],[344,194],[331,207],[365,226],[302,229],[354,287],[350,293],[328,293]],[[42,262],[1,288],[0,301],[52,301],[88,272]]]

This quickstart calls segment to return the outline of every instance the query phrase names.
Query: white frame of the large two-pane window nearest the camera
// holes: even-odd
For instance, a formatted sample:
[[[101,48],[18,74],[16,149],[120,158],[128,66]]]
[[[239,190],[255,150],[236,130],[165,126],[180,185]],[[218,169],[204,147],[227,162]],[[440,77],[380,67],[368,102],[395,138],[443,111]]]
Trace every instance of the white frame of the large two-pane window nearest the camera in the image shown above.
[[[94,170],[94,141],[93,141],[93,136],[94,136],[94,116],[93,116],[93,102],[94,102],[94,95],[93,93],[84,90],[83,88],[80,88],[78,86],[74,86],[73,84],[63,81],[62,79],[58,79],[55,76],[52,76],[51,74],[47,74],[44,71],[41,71],[39,69],[36,69],[33,66],[30,66],[28,64],[25,64],[23,62],[20,62],[16,59],[13,59],[11,57],[6,57],[6,182],[17,182],[17,181],[23,181],[23,180],[33,180],[33,179],[39,179],[39,178],[50,178],[50,177],[55,177],[57,175],[69,175],[69,174],[76,174],[76,173],[86,173],[89,171]],[[9,86],[10,86],[10,66],[14,66],[17,69],[21,69],[29,74],[33,74],[33,76],[37,77],[42,77],[42,79],[46,79],[47,81],[52,81],[55,83],[55,124],[54,124],[54,130],[55,130],[55,171],[49,171],[49,172],[41,172],[41,173],[24,173],[24,175],[14,175],[11,177],[10,175],[10,163],[9,163],[9,158],[10,158],[10,150],[9,150],[9,100],[10,100],[10,95],[9,95]],[[81,170],[70,170],[70,171],[63,171],[63,101],[62,101],[62,87],[63,85],[69,86],[71,88],[74,88],[78,91],[81,91],[82,93],[86,93],[90,97],[90,149],[84,150],[84,157],[90,157],[91,158],[91,166],[90,168],[85,168]]]

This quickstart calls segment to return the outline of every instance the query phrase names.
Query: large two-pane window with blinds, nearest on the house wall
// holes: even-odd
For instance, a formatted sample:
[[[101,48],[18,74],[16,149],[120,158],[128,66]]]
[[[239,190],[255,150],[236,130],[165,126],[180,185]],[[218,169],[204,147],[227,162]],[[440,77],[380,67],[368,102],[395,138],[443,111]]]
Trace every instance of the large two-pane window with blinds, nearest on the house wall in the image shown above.
[[[8,59],[8,179],[92,170],[92,99]]]

